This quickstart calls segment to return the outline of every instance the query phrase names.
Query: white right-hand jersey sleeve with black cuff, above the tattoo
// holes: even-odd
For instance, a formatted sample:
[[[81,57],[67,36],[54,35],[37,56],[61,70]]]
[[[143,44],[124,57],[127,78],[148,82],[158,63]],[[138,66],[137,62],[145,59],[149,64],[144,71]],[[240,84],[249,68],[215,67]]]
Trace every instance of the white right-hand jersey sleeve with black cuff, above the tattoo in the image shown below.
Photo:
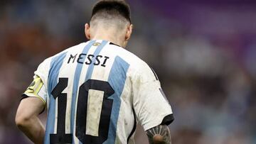
[[[134,111],[144,130],[162,124],[169,118],[168,124],[174,120],[169,101],[161,89],[156,74],[149,66],[137,72],[133,82]]]

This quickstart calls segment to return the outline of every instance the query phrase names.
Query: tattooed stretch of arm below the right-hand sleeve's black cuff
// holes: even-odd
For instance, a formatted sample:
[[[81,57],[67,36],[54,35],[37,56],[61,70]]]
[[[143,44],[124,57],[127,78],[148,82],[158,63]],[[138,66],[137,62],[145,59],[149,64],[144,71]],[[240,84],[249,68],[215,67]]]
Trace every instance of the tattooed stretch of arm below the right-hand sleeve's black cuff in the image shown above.
[[[149,138],[149,143],[163,143],[170,144],[171,143],[171,133],[166,125],[159,125],[154,128],[150,128],[146,131],[146,135]]]

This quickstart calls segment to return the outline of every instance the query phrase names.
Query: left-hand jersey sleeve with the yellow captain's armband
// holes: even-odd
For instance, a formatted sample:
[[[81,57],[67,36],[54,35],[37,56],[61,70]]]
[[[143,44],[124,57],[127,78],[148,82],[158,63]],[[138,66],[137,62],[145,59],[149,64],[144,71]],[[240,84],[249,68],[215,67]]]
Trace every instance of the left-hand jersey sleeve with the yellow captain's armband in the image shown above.
[[[26,97],[37,97],[43,101],[43,104],[46,108],[47,106],[47,81],[48,81],[48,67],[49,60],[44,60],[39,66],[38,69],[34,72],[33,82],[28,86],[26,91],[22,94],[21,99]]]

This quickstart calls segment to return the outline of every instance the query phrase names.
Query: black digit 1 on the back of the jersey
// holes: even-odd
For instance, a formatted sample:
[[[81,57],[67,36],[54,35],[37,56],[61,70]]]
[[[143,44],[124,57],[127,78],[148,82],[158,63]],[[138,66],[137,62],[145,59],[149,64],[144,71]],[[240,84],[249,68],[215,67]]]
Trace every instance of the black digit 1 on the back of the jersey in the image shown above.
[[[58,97],[58,121],[57,133],[50,134],[50,143],[72,143],[72,134],[65,134],[65,111],[67,106],[67,94],[63,90],[68,87],[68,78],[60,78],[58,84],[51,94],[53,98]]]

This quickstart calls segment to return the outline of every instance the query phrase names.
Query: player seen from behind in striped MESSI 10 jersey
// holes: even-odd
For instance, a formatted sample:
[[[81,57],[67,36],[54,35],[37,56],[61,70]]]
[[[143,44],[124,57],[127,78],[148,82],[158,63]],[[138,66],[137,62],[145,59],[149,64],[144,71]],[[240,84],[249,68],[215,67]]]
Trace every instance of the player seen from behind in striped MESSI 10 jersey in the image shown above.
[[[34,143],[134,143],[137,122],[149,143],[171,143],[174,120],[159,79],[124,48],[132,34],[125,1],[98,1],[89,41],[44,60],[22,95],[16,125]],[[46,131],[38,115],[48,111]]]

